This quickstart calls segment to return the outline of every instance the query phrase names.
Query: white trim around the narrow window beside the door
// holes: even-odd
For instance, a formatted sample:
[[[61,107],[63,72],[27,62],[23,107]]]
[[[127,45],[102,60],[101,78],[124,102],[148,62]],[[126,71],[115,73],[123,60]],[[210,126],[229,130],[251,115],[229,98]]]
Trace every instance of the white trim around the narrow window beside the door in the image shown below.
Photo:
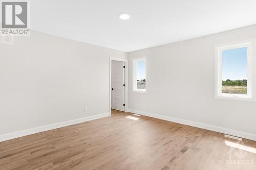
[[[145,90],[142,90],[142,89],[137,89],[137,64],[136,62],[137,61],[145,61],[145,79],[146,79],[146,89]],[[136,58],[136,59],[133,59],[133,92],[136,92],[136,93],[146,93],[147,91],[147,63],[146,63],[146,58]]]

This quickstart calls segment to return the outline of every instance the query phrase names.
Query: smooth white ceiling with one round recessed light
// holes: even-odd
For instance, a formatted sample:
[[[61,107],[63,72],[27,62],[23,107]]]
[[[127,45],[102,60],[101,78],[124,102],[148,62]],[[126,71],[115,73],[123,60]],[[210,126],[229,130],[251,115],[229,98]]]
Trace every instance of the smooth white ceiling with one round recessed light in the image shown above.
[[[256,24],[256,0],[30,2],[32,30],[124,52]]]

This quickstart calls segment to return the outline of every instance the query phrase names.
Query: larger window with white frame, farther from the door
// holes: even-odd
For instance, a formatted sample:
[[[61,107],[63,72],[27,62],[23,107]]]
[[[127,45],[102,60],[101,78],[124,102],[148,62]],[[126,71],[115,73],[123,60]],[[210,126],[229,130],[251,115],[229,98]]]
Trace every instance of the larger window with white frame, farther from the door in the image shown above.
[[[217,98],[251,98],[251,44],[217,47]]]

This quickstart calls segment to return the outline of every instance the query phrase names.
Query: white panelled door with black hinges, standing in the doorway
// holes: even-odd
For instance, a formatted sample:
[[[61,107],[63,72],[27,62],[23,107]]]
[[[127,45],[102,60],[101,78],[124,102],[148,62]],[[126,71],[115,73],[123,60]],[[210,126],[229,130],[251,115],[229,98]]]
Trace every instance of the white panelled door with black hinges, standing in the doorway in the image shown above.
[[[112,60],[111,108],[124,111],[124,62]]]

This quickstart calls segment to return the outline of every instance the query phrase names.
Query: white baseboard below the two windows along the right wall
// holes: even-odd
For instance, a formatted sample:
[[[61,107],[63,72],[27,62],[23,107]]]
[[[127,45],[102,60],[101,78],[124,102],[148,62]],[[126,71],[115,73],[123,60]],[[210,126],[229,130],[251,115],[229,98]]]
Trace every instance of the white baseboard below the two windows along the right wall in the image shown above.
[[[201,128],[201,129],[220,132],[220,133],[256,141],[256,134],[252,134],[252,133],[222,128],[222,127],[213,126],[213,125],[207,125],[207,124],[193,122],[193,121],[185,120],[185,119],[181,119],[181,118],[175,118],[175,117],[169,117],[169,116],[164,116],[164,115],[159,115],[159,114],[154,114],[154,113],[148,113],[148,112],[144,112],[144,111],[138,111],[138,110],[134,110],[134,109],[128,109],[127,111],[131,112],[131,113],[136,113],[136,114],[141,114],[144,116],[159,118],[159,119],[167,120],[170,122],[175,122],[175,123],[179,123],[179,124],[183,124],[183,125],[193,126],[193,127],[197,127],[197,128]]]

